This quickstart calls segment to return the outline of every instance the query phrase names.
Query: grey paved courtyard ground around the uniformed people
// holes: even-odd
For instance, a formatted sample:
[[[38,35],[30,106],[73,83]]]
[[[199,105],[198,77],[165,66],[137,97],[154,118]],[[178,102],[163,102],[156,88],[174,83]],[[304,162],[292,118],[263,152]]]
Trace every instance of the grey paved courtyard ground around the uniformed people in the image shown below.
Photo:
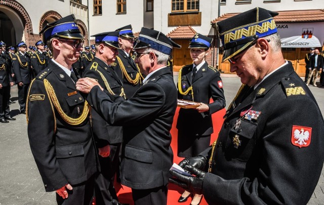
[[[226,104],[235,96],[240,81],[238,77],[222,76]],[[310,87],[324,112],[324,87]],[[12,88],[12,116],[16,121],[0,124],[0,204],[56,204],[55,192],[45,192],[43,182],[29,148],[26,116],[19,113],[17,87]],[[42,124],[39,124],[41,127]],[[324,137],[324,136],[323,136]],[[306,175],[311,175],[311,170]],[[303,193],[296,193],[303,194]],[[309,201],[311,205],[324,205],[324,170]]]

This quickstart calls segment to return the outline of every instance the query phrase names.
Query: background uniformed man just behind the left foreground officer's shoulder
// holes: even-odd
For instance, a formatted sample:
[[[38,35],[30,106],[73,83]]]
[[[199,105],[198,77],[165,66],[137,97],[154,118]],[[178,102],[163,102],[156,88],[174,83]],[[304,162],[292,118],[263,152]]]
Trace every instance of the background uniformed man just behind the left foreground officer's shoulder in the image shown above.
[[[31,57],[31,66],[34,69],[35,75],[42,72],[47,67],[47,58],[44,53],[44,43],[42,40],[38,40],[35,43],[37,50]]]

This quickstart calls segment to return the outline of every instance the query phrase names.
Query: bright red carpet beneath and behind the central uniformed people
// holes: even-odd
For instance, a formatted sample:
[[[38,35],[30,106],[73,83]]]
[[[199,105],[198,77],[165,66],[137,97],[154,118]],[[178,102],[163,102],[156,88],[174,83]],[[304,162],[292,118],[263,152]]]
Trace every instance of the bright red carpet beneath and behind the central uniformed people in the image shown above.
[[[179,112],[179,108],[177,108],[176,114],[174,116],[174,120],[173,120],[173,125],[172,125],[172,129],[171,129],[171,135],[172,135],[172,141],[171,141],[171,147],[173,149],[173,153],[174,153],[174,162],[175,163],[179,163],[183,158],[182,157],[178,157],[177,156],[177,137],[178,137],[178,130],[176,129],[176,123],[177,123],[177,118],[178,118],[178,112]],[[225,114],[226,110],[225,108],[214,113],[212,115],[213,117],[213,126],[214,126],[214,134],[212,134],[211,137],[211,143],[213,143],[218,136],[218,133],[221,129],[221,126],[223,124],[223,116]],[[131,205],[133,205],[133,200],[132,200],[132,193],[131,193],[131,188],[126,187],[126,186],[122,186],[118,183],[115,183],[115,188],[116,191],[118,192],[118,199],[121,203],[129,203]],[[183,189],[174,185],[174,184],[169,184],[169,191],[168,191],[168,205],[174,205],[174,204],[181,204],[181,205],[187,205],[190,204],[191,202],[191,198],[189,198],[186,202],[183,203],[178,203],[178,199],[180,197],[180,195],[183,193]],[[145,204],[143,204],[145,205]],[[203,200],[201,200],[200,205],[207,205],[206,200],[203,198]]]

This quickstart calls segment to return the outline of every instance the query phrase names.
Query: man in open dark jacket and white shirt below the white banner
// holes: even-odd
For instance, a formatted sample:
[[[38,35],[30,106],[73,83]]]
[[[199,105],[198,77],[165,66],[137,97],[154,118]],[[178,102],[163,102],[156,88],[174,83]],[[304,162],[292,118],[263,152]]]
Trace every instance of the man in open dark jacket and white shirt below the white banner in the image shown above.
[[[318,73],[323,68],[323,57],[320,55],[319,50],[315,49],[314,55],[310,57],[309,63],[308,63],[308,69],[309,69],[309,75],[307,79],[306,85],[310,84],[310,78],[313,77],[312,85],[316,85],[316,79],[318,76]]]

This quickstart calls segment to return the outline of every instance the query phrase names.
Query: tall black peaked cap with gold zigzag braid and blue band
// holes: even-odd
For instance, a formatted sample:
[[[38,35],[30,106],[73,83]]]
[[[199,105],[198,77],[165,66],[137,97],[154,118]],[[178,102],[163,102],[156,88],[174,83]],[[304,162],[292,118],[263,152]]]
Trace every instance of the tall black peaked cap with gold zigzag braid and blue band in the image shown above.
[[[277,12],[255,8],[217,23],[224,50],[223,61],[241,53],[256,39],[277,32],[273,17]]]

